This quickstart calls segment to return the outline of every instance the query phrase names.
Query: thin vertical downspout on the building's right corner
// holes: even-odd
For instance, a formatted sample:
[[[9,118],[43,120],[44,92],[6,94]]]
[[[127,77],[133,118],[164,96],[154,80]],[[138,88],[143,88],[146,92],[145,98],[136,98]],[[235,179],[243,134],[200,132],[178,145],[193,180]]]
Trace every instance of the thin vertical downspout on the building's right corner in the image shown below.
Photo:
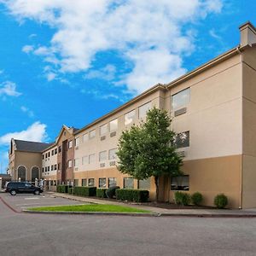
[[[242,54],[240,47],[236,47],[236,51],[239,55],[241,55],[241,64],[242,64]],[[243,72],[241,66],[241,166],[240,166],[240,198],[239,198],[239,209],[242,208],[242,171],[243,171],[243,104],[242,104],[242,97],[243,97]]]

